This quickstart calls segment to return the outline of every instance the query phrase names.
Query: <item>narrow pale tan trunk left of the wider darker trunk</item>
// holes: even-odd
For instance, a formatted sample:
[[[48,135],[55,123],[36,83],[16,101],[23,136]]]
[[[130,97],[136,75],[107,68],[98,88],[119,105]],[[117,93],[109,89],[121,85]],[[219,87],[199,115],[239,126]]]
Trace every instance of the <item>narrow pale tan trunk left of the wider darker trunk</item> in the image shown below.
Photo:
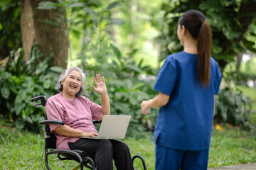
[[[21,0],[21,35],[22,35],[22,46],[25,51],[24,60],[28,62],[31,47],[35,40],[35,27],[33,22],[33,13],[29,0]]]

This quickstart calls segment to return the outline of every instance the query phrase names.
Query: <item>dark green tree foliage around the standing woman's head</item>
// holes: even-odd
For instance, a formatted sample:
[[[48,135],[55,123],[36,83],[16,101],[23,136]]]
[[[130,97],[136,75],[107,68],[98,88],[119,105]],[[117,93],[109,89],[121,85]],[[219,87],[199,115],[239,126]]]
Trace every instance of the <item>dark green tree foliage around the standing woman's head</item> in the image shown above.
[[[254,11],[246,11],[247,4],[255,6],[255,1],[170,1],[164,3],[163,21],[166,22],[161,30],[160,39],[164,48],[169,47],[161,56],[166,53],[180,51],[181,45],[176,36],[178,16],[189,9],[198,9],[206,15],[206,21],[210,24],[213,34],[212,56],[218,60],[220,68],[223,69],[229,62],[233,62],[235,55],[245,52],[245,49],[255,52],[255,25]],[[249,10],[249,9],[248,9]],[[245,23],[242,17],[250,16],[250,22]],[[250,24],[252,26],[250,26]],[[250,36],[245,36],[245,28],[248,28]],[[164,56],[162,58],[164,58]]]

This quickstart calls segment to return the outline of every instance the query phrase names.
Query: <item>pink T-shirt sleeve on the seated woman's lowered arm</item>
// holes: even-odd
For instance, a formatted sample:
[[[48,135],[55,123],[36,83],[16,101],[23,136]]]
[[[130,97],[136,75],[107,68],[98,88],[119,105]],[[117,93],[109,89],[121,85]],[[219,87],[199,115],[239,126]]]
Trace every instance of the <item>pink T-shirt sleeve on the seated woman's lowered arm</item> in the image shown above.
[[[46,103],[46,115],[48,120],[62,120],[64,121],[65,110],[57,102],[47,101]],[[58,128],[59,125],[50,124],[50,132]]]

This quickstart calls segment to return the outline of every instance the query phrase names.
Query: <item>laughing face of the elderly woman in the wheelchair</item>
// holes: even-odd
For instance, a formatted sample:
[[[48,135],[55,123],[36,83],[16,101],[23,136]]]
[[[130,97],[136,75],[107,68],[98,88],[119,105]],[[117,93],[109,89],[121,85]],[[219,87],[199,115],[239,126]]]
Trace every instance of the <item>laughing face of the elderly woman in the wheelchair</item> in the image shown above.
[[[63,85],[63,91],[61,92],[65,98],[73,100],[75,94],[78,94],[82,84],[82,75],[78,71],[71,71],[63,81],[60,82]]]

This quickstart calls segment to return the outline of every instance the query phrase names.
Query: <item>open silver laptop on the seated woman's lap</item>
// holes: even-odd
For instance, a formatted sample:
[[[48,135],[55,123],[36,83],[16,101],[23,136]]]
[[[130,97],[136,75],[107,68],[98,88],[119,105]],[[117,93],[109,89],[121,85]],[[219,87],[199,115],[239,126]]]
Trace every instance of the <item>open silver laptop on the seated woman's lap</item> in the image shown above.
[[[124,139],[131,115],[104,115],[97,137],[87,139]]]

